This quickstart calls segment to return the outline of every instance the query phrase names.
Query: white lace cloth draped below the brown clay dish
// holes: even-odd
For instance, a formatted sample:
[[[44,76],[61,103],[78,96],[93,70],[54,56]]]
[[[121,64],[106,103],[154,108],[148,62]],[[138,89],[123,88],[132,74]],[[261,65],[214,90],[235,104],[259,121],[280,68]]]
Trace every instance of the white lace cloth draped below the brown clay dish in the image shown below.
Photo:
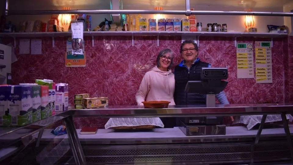
[[[112,127],[135,127],[152,125],[164,128],[164,124],[158,117],[128,117],[110,118],[105,125],[105,129]]]

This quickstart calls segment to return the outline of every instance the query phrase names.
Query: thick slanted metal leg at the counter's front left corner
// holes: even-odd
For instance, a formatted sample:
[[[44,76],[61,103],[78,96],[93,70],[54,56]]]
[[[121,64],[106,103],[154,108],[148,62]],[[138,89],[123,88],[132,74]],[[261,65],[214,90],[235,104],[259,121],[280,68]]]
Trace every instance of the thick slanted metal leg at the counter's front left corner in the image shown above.
[[[76,132],[76,129],[74,127],[73,118],[72,116],[68,116],[63,119],[63,122],[65,124],[69,143],[71,145],[72,153],[75,159],[75,163],[78,165],[86,165],[85,156],[83,154],[78,135]]]

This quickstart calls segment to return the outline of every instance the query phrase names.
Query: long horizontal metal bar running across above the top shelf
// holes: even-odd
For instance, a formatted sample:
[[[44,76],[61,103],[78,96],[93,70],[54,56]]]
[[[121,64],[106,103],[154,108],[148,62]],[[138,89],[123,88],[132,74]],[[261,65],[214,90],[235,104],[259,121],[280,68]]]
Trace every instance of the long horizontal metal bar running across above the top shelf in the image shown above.
[[[34,14],[182,14],[185,10],[9,10],[9,15]],[[254,15],[254,16],[293,16],[286,12],[244,12],[244,11],[191,11],[195,15]]]

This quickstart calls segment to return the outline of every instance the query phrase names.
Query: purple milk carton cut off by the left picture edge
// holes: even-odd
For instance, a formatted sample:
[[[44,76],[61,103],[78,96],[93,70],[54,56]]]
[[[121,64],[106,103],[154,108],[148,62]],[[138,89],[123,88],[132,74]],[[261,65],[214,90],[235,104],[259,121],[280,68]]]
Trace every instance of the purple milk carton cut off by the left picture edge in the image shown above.
[[[11,116],[8,109],[8,97],[11,92],[11,86],[0,86],[0,126],[8,127],[11,125]]]

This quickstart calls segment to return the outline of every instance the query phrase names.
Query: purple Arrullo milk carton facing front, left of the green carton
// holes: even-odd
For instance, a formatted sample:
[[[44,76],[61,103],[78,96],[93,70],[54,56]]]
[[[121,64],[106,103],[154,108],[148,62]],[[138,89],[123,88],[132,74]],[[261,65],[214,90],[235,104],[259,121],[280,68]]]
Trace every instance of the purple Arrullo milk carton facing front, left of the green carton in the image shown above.
[[[7,105],[12,126],[32,123],[32,86],[11,86]]]

